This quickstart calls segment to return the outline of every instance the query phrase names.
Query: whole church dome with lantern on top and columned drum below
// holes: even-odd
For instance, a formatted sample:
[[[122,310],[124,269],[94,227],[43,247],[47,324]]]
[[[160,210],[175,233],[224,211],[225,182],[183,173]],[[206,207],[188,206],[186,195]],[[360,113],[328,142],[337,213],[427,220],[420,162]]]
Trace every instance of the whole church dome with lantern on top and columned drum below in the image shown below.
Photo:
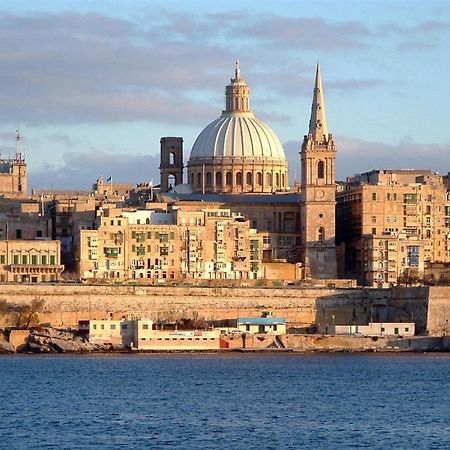
[[[189,183],[199,192],[287,190],[287,162],[274,131],[249,106],[250,88],[235,77],[226,87],[222,115],[197,137],[188,162]]]

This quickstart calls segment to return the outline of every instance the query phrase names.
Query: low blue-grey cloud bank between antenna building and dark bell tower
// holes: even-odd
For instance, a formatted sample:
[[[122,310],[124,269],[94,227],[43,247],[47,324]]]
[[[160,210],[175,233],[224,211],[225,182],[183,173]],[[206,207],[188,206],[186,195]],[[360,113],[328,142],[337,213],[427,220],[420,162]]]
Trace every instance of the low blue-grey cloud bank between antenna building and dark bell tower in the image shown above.
[[[111,175],[117,183],[136,184],[151,179],[159,182],[159,155],[109,154],[99,150],[65,152],[61,164],[30,168],[28,186],[90,190],[100,175],[104,178]]]

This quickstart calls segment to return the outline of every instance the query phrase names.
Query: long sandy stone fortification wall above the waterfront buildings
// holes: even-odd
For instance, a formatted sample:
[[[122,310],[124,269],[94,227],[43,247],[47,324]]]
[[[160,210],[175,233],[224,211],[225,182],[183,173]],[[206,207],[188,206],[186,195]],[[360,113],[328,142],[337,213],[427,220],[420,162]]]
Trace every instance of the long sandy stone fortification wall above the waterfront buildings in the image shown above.
[[[450,320],[449,287],[392,289],[213,288],[165,286],[0,285],[0,300],[45,300],[41,322],[76,326],[81,319],[121,318],[206,320],[260,316],[271,311],[290,327],[414,321],[416,331],[443,335]],[[0,316],[0,326],[4,320]]]

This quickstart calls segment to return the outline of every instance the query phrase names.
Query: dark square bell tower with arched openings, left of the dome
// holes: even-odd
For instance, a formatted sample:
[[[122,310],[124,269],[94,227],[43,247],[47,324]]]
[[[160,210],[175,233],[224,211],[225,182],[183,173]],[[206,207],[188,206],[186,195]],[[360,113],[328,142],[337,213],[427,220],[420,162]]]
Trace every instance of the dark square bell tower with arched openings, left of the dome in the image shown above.
[[[183,138],[161,138],[161,192],[183,183]]]

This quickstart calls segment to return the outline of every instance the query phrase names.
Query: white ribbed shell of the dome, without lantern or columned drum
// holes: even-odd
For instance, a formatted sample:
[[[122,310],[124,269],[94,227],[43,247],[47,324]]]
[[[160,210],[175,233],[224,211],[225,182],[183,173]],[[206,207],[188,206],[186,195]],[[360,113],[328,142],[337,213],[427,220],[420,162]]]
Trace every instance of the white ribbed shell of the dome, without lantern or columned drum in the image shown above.
[[[200,133],[192,147],[196,158],[250,157],[285,160],[280,140],[253,113],[223,113]]]

